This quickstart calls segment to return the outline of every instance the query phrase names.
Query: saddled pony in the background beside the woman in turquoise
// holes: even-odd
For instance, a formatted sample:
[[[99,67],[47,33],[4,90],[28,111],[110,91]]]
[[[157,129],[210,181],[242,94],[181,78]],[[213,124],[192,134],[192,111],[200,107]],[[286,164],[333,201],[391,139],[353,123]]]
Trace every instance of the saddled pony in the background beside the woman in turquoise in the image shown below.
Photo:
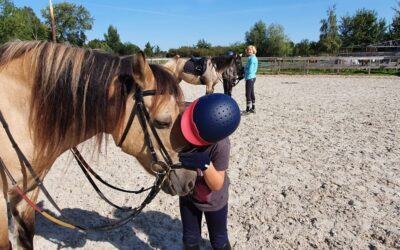
[[[240,55],[191,59],[176,55],[164,67],[175,75],[178,82],[183,80],[194,85],[205,85],[206,94],[214,93],[214,87],[221,81],[225,71],[230,72],[230,79],[243,78],[244,74]]]

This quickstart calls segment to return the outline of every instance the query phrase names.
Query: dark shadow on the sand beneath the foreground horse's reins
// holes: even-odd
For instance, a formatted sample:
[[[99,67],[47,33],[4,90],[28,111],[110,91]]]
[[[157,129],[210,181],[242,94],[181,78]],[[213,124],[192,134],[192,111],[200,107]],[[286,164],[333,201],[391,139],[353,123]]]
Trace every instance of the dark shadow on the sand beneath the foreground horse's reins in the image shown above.
[[[177,208],[178,209],[178,208]],[[63,213],[80,224],[89,226],[103,225],[109,218],[97,212],[78,208],[63,209]],[[114,211],[115,218],[124,217],[126,213]],[[56,218],[61,219],[59,216]],[[62,248],[86,248],[89,241],[107,242],[116,249],[166,249],[182,248],[182,224],[180,220],[158,211],[140,213],[131,222],[107,232],[82,233],[58,226],[41,215],[36,216],[36,235],[45,238]],[[143,240],[145,239],[145,240]],[[205,249],[211,249],[208,240],[201,243]],[[93,247],[95,248],[95,246]]]

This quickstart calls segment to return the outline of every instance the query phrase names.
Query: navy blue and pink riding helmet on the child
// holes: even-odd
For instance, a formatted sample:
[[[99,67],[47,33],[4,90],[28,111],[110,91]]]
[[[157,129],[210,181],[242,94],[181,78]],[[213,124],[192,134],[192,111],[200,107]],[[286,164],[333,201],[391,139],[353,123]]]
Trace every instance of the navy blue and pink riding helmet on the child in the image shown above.
[[[240,109],[232,97],[210,94],[192,102],[184,111],[181,130],[193,145],[206,146],[231,135],[240,123]]]

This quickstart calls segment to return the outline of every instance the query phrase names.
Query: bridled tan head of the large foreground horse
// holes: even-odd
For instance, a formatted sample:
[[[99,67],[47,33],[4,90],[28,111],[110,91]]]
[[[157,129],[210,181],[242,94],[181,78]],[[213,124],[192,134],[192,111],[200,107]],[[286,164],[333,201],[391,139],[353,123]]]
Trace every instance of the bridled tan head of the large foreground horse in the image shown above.
[[[112,135],[125,153],[134,155],[149,173],[155,175],[165,170],[164,164],[170,164],[165,161],[160,164],[156,161],[165,160],[165,154],[167,154],[172,162],[178,162],[178,153],[187,146],[179,122],[180,105],[184,103],[183,95],[174,76],[161,66],[149,65],[144,53],[140,52],[126,59],[131,62],[131,66],[125,66],[120,73],[120,79],[129,95],[126,100],[125,115],[122,116]],[[124,68],[123,63],[121,68]],[[127,70],[132,71],[130,74],[132,81],[126,80],[126,76],[129,75]],[[154,94],[145,94],[151,91],[155,91]],[[143,101],[143,108],[149,115],[148,126],[143,126],[140,121],[140,114],[138,114],[140,110],[137,106],[140,100]],[[131,111],[136,112],[138,119],[134,119],[129,124],[130,115],[128,114]],[[156,135],[149,126],[153,126]],[[121,143],[124,128],[127,133]],[[151,152],[149,145],[141,140],[145,138],[145,133],[150,134],[150,143],[154,146],[154,152]],[[159,145],[156,137],[159,137],[162,145]],[[162,151],[164,149],[165,151]],[[153,156],[154,153],[156,156]],[[195,178],[194,171],[174,169],[169,172],[162,186],[163,191],[171,195],[186,195],[193,188]]]

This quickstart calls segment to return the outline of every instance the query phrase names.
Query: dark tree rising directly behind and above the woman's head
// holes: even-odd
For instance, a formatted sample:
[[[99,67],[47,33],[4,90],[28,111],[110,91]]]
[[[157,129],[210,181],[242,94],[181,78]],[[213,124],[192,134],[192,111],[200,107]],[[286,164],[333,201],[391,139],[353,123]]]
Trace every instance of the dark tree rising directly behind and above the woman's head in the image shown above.
[[[257,54],[265,56],[266,41],[267,41],[267,26],[263,21],[258,21],[245,34],[247,45],[254,45],[257,48]]]

